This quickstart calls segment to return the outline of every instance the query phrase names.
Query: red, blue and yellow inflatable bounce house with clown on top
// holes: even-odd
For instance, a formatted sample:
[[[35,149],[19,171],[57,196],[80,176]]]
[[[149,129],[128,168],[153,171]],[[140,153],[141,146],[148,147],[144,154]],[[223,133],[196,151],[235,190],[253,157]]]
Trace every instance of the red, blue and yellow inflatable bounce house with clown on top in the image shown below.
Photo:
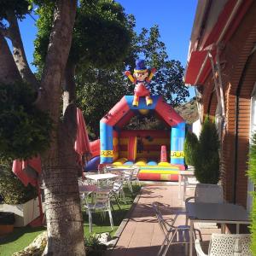
[[[183,143],[185,122],[161,96],[150,96],[148,83],[154,75],[143,60],[137,60],[133,76],[134,96],[124,96],[100,121],[100,140],[91,143],[97,154],[87,170],[101,165],[140,166],[143,180],[177,181],[178,170],[184,170]],[[166,124],[166,130],[125,130],[137,114],[154,114]],[[93,149],[95,148],[95,149]],[[99,157],[100,154],[100,157]],[[96,170],[96,169],[95,169]]]

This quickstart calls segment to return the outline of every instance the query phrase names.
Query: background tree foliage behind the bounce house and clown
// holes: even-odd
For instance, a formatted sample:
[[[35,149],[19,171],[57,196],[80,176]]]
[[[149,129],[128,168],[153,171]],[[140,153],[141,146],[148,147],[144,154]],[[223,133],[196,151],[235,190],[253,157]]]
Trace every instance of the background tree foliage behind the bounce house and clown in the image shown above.
[[[129,24],[131,29],[135,26],[134,17],[129,17]],[[163,96],[172,107],[181,104],[189,96],[188,88],[183,84],[183,67],[179,61],[168,60],[165,44],[160,41],[159,27],[153,26],[149,31],[143,28],[139,35],[133,32],[125,65],[117,65],[112,69],[92,69],[93,73],[91,69],[86,68],[79,72],[77,102],[84,110],[86,123],[91,131],[95,131],[97,137],[99,122],[104,114],[113,108],[122,96],[133,94],[134,84],[125,79],[124,71],[125,68],[132,71],[135,60],[141,55],[148,67],[157,68],[157,73],[150,83],[152,95]],[[129,128],[143,129],[146,119],[135,117]],[[163,127],[158,119],[150,119],[150,123],[149,126],[155,129]]]

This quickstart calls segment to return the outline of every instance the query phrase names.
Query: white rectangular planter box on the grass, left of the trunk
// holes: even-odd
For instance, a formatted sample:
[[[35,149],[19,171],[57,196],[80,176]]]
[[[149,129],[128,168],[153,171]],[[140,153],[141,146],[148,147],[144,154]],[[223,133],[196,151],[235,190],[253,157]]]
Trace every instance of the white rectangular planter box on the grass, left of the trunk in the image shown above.
[[[38,197],[20,205],[0,205],[0,211],[15,213],[15,227],[26,226],[40,215]]]

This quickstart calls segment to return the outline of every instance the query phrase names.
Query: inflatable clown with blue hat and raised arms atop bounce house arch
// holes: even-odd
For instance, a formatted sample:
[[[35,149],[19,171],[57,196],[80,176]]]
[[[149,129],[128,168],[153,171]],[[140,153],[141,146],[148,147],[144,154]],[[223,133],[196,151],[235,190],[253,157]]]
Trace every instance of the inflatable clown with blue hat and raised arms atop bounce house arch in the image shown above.
[[[152,68],[148,75],[148,69],[145,67],[144,60],[136,61],[136,68],[134,69],[133,76],[131,76],[130,71],[125,71],[125,75],[131,80],[131,83],[136,84],[132,106],[138,107],[140,96],[146,97],[147,106],[153,103],[152,98],[150,97],[150,91],[148,90],[148,84],[153,78],[155,71],[156,69]]]

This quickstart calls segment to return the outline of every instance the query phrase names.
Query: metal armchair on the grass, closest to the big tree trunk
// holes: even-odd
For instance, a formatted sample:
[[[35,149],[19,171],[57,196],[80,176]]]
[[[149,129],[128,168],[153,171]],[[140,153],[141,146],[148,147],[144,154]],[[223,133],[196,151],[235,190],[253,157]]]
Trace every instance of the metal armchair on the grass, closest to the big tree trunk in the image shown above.
[[[110,190],[109,189],[98,189],[95,192],[94,202],[88,202],[85,197],[84,207],[86,208],[86,213],[89,215],[89,227],[90,233],[92,232],[92,212],[108,212],[111,229],[113,230],[113,218],[110,207]]]

